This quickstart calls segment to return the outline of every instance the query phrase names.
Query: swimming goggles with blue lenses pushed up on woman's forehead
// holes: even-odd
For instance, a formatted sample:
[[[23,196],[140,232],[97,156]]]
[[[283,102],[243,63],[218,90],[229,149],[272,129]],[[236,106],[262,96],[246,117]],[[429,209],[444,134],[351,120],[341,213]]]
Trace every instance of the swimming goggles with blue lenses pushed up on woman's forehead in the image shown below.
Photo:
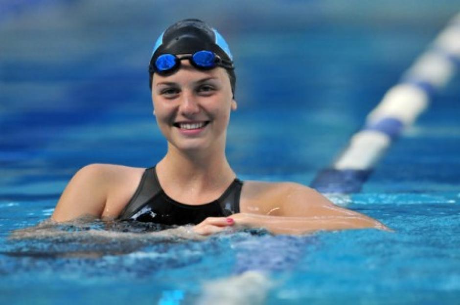
[[[189,60],[190,64],[199,70],[209,70],[216,66],[226,69],[233,69],[233,62],[220,59],[211,51],[198,51],[192,55],[185,55],[180,58],[172,54],[162,54],[155,62],[150,61],[149,73],[168,74],[181,66],[181,61]]]

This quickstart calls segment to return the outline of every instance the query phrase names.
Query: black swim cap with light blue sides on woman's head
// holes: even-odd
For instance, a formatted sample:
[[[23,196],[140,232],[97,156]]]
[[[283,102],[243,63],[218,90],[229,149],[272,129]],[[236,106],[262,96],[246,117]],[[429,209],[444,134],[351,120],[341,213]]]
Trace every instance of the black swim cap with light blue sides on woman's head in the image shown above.
[[[198,51],[212,51],[222,60],[233,62],[229,45],[215,29],[198,19],[178,21],[161,33],[153,48],[150,65],[162,54],[194,54]],[[235,94],[236,76],[233,69],[226,69]],[[149,68],[149,88],[152,89],[153,71]]]

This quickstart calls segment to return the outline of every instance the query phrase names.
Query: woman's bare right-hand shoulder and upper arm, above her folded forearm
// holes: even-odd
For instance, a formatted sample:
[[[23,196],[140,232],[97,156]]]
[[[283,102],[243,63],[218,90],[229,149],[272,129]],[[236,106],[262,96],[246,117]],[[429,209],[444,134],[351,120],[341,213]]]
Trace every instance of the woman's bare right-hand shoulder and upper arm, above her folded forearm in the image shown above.
[[[316,190],[299,183],[245,181],[243,185],[242,212],[281,216],[292,214],[290,207],[297,204],[314,206],[332,203]]]

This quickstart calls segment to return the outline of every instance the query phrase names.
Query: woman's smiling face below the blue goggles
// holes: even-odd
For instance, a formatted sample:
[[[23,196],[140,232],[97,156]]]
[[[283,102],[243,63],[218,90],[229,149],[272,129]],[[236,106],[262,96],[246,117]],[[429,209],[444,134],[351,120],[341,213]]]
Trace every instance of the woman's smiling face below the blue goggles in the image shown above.
[[[187,151],[224,149],[230,111],[236,109],[225,69],[197,70],[182,61],[172,75],[154,74],[152,100],[169,145]]]

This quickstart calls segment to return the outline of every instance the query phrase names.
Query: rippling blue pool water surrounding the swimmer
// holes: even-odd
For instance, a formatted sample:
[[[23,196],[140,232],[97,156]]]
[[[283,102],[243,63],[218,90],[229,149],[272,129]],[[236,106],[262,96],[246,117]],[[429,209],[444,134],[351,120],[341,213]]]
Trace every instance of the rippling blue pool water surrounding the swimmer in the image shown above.
[[[8,240],[51,215],[78,168],[146,167],[164,155],[146,62],[172,21],[202,18],[230,42],[238,110],[227,153],[240,178],[308,184],[458,9],[455,1],[178,1],[173,10],[168,1],[93,2],[0,2],[1,304],[226,304],[225,287],[235,296],[251,286],[248,304],[458,303],[459,76],[361,193],[332,197],[395,233]],[[248,270],[263,283],[235,285]],[[209,296],[210,283],[220,298]]]

